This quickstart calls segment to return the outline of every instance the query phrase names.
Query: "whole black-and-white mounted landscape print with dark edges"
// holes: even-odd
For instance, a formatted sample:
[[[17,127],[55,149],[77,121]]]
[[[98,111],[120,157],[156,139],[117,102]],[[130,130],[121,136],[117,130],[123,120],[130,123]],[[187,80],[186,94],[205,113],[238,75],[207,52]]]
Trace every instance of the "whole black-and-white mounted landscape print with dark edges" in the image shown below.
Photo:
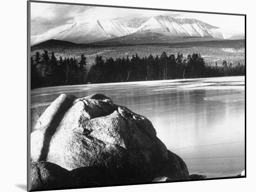
[[[246,15],[27,5],[28,191],[246,177]]]

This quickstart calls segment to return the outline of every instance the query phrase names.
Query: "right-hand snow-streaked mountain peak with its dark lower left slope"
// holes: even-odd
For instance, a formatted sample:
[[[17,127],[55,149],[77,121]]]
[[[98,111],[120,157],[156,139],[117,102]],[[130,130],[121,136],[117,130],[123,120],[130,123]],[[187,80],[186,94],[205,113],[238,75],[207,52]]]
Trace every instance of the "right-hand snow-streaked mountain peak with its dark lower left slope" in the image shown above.
[[[178,43],[190,41],[244,39],[244,34],[233,30],[211,26],[197,19],[174,19],[170,16],[155,16],[136,32],[96,42],[97,44],[143,44]]]

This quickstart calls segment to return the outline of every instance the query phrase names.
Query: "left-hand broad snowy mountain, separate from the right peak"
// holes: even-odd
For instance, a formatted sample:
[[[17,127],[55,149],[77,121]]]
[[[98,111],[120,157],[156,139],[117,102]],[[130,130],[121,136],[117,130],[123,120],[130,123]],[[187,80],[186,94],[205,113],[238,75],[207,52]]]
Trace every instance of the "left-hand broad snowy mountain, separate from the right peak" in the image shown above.
[[[31,45],[36,45],[50,39],[65,40],[74,43],[91,43],[128,35],[134,32],[134,30],[133,27],[122,25],[120,21],[87,20],[55,27],[43,34],[32,36]]]

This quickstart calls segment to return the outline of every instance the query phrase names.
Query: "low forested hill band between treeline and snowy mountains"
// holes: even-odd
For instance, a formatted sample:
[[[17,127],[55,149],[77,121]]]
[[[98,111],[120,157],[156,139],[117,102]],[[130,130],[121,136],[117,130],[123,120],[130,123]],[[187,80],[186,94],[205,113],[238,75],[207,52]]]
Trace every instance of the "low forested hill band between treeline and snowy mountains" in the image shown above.
[[[163,51],[167,54],[178,54],[182,52],[184,56],[193,52],[201,54],[206,64],[222,62],[223,59],[229,62],[244,63],[244,40],[212,40],[212,41],[191,41],[182,43],[147,43],[138,45],[109,45],[109,44],[74,44],[67,41],[49,40],[39,45],[31,47],[31,55],[36,51],[43,53],[44,50],[53,51],[56,57],[76,57],[80,58],[84,54],[88,59],[88,67],[94,63],[96,55],[106,58],[126,58],[135,55],[140,57],[152,55],[160,56]]]

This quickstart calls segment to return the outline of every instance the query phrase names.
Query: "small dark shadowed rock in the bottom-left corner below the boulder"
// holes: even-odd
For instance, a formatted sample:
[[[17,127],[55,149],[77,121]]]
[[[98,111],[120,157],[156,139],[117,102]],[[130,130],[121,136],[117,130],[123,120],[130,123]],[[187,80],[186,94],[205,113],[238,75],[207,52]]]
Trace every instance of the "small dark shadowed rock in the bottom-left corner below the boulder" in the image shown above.
[[[75,186],[71,173],[49,162],[33,162],[30,170],[32,190],[56,189]]]

